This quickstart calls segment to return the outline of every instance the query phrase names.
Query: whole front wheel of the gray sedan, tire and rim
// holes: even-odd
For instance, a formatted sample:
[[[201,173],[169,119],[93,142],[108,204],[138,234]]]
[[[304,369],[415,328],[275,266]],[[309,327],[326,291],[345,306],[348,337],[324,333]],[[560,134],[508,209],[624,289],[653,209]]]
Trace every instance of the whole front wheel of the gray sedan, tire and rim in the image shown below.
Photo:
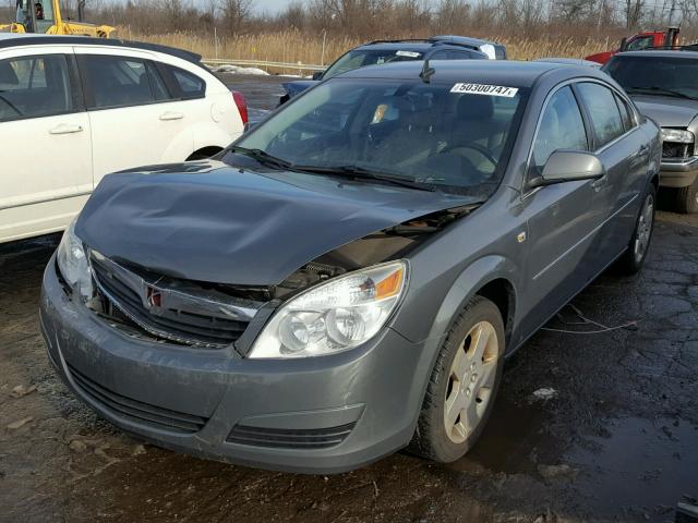
[[[432,370],[411,450],[450,462],[472,448],[486,424],[504,364],[504,321],[476,296],[452,327]]]

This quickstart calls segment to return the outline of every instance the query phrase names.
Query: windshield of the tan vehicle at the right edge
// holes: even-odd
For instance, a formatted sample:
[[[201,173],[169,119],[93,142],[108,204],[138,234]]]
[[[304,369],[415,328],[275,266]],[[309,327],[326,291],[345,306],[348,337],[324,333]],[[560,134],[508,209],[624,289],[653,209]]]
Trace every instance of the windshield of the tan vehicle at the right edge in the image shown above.
[[[630,95],[698,99],[696,58],[618,56],[604,66],[604,71]]]

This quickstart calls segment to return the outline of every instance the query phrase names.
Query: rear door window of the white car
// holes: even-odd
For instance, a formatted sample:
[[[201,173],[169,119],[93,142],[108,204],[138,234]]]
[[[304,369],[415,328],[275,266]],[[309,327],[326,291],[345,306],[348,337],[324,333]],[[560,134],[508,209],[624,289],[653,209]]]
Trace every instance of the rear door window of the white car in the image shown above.
[[[146,60],[83,56],[81,65],[89,85],[89,109],[140,106],[170,98],[159,73]]]

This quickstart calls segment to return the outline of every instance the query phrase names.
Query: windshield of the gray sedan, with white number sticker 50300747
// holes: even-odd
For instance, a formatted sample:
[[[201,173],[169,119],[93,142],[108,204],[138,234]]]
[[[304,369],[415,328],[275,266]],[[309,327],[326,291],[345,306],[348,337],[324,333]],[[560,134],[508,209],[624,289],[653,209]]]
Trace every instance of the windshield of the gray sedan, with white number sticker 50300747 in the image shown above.
[[[493,89],[498,94],[484,94]],[[431,190],[488,196],[506,168],[526,92],[419,78],[335,78],[261,123],[224,161],[240,165],[240,154],[252,149],[279,169],[328,175],[361,169]]]

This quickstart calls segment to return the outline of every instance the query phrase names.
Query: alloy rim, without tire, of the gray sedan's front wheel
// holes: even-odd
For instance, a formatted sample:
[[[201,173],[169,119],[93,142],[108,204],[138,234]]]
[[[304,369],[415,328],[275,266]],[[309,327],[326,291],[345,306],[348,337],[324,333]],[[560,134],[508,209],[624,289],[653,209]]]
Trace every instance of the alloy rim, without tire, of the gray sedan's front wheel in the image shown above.
[[[444,398],[444,426],[448,439],[462,443],[484,415],[493,393],[500,348],[494,326],[476,324],[450,365]]]

